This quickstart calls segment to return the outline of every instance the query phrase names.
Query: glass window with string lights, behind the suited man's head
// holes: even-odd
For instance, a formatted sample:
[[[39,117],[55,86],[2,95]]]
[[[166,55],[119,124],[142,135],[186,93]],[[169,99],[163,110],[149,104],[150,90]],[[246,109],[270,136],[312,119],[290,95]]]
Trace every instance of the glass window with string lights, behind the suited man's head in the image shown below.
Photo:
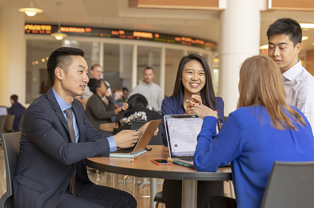
[[[26,104],[30,104],[52,86],[47,72],[51,52],[62,47],[61,41],[26,41]]]

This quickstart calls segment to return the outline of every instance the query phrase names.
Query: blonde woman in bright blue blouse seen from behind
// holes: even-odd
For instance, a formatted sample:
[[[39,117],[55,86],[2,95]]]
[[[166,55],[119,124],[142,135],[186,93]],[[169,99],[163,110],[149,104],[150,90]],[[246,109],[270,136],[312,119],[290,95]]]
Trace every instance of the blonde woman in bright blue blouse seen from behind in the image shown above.
[[[286,104],[281,72],[271,58],[244,61],[239,93],[238,109],[218,134],[217,112],[202,104],[192,106],[191,111],[204,119],[194,168],[216,172],[231,162],[237,207],[260,208],[274,161],[314,161],[313,133],[305,115]]]

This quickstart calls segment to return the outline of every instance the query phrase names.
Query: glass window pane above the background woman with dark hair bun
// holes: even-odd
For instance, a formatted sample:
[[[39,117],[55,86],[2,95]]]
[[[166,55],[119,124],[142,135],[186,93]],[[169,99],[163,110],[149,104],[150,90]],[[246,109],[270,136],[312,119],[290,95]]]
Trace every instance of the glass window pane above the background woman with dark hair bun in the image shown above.
[[[111,89],[132,88],[133,46],[104,44],[104,80]]]

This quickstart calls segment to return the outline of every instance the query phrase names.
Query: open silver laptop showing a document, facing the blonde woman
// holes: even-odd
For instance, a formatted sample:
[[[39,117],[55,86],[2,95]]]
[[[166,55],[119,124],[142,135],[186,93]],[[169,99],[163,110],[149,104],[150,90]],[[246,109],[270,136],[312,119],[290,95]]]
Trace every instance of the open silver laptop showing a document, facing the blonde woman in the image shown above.
[[[164,115],[169,154],[172,160],[193,165],[193,155],[203,119],[197,115]],[[220,130],[217,119],[217,132]]]

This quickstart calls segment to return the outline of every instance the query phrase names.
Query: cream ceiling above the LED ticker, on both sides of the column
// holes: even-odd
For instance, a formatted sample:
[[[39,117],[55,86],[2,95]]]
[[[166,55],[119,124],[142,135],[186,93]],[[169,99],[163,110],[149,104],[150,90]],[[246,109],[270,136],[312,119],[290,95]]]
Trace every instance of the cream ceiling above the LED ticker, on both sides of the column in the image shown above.
[[[0,6],[16,8],[28,7],[29,3],[30,0],[0,0]],[[129,0],[33,0],[33,3],[44,12],[33,17],[25,15],[27,23],[57,24],[60,15],[61,25],[180,34],[217,42],[219,48],[220,11],[136,8],[129,7]],[[268,26],[284,16],[300,23],[314,23],[314,11],[262,11],[261,45],[268,42]],[[303,41],[302,50],[313,50],[314,29],[304,31],[304,36],[309,39]]]

